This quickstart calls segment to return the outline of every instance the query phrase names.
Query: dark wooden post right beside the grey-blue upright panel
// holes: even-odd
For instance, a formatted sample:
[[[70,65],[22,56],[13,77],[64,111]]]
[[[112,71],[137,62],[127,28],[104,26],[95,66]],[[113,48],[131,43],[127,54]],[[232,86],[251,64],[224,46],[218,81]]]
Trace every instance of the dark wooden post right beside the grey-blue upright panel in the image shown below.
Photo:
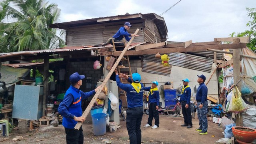
[[[44,95],[43,95],[43,116],[45,116],[46,98],[49,95],[49,59],[44,59]]]

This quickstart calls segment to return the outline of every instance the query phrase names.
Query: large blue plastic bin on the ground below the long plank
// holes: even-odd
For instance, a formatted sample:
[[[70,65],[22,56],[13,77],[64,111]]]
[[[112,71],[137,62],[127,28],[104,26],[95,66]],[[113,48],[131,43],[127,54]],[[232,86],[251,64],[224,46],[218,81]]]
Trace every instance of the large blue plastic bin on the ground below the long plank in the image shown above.
[[[94,136],[103,136],[106,134],[106,118],[104,113],[98,113],[92,115],[92,126]]]

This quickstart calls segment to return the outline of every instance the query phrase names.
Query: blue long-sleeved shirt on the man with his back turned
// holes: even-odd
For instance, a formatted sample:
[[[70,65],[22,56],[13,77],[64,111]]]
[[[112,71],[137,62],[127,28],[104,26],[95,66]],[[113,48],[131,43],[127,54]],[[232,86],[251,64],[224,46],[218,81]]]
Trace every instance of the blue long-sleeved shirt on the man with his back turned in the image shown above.
[[[128,78],[128,81],[131,82],[132,79]],[[141,84],[140,92],[136,92],[134,87],[131,84],[123,84],[120,82],[119,76],[116,75],[116,84],[119,88],[127,92],[127,105],[128,108],[135,108],[143,106],[143,84]]]

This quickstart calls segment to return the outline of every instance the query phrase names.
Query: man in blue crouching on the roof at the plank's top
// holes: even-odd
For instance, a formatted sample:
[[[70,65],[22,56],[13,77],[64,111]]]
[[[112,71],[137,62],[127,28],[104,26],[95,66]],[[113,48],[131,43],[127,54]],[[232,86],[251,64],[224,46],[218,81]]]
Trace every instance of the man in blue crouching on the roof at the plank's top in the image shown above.
[[[123,38],[125,38],[128,42],[130,41],[131,38],[129,36],[139,36],[135,34],[129,34],[127,31],[132,27],[130,22],[125,22],[124,26],[120,27],[119,30],[116,32],[112,38],[114,38],[114,42],[121,42]],[[113,45],[112,40],[110,40],[110,44]],[[124,43],[117,43],[115,46],[124,46]],[[118,47],[116,50],[124,50],[124,47]]]

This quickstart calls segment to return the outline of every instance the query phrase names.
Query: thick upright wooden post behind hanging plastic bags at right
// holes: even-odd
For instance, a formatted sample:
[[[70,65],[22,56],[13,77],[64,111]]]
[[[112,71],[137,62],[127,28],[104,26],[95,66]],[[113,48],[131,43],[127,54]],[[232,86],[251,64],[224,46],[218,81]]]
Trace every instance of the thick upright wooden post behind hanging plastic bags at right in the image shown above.
[[[239,39],[233,39],[233,43],[239,43]],[[241,92],[240,51],[241,49],[233,49],[233,72],[234,84],[238,86]],[[236,126],[243,126],[242,113],[236,115]]]

